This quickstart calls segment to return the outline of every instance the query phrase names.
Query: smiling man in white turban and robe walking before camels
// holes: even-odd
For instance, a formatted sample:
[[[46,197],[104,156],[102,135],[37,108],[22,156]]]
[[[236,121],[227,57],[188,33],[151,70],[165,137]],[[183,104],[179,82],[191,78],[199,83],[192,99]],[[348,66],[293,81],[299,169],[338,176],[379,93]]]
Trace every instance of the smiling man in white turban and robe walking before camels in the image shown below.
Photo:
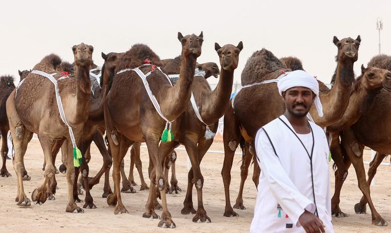
[[[323,116],[318,81],[297,70],[278,89],[285,113],[254,141],[261,175],[250,232],[333,233],[326,134],[306,118],[312,103]]]

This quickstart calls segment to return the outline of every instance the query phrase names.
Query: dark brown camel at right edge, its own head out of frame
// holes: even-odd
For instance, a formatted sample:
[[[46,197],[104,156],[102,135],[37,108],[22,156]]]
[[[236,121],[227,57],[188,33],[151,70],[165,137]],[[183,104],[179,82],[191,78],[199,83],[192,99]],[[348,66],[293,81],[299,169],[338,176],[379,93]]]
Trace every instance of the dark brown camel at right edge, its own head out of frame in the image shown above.
[[[368,65],[377,67],[378,69],[373,67],[367,68],[371,68],[377,72],[371,72],[372,77],[370,78],[377,78],[378,75],[382,74],[380,71],[383,71],[383,73],[386,74],[386,81],[390,82],[390,72],[382,70],[391,68],[391,66],[387,66],[388,64],[391,64],[388,63],[390,61],[391,58],[384,55],[372,58]],[[372,213],[372,224],[377,226],[388,225],[375,210],[369,191],[369,185],[376,173],[377,166],[379,166],[387,154],[391,153],[391,148],[389,146],[390,142],[387,139],[387,130],[385,130],[388,129],[387,124],[389,121],[387,119],[381,120],[381,116],[389,113],[391,109],[388,104],[391,88],[389,85],[385,84],[383,84],[383,87],[384,88],[381,90],[379,90],[380,88],[378,87],[375,91],[356,97],[356,99],[352,99],[352,95],[352,100],[350,100],[352,105],[351,108],[347,109],[344,117],[340,121],[327,128],[328,131],[335,132],[336,134],[336,136],[334,136],[336,139],[334,139],[331,144],[332,157],[337,165],[337,170],[335,172],[335,193],[331,200],[332,213],[337,217],[347,216],[339,207],[340,192],[343,182],[348,175],[347,169],[353,164],[359,188],[363,192],[363,197],[361,198],[360,203],[357,203],[354,206],[354,210],[356,214],[364,214],[366,213],[366,205],[368,203]],[[364,97],[366,98],[364,99]],[[379,120],[382,122],[381,126],[377,124]],[[342,130],[343,134],[340,134],[342,139],[340,145],[338,133]],[[366,181],[363,157],[361,156],[363,155],[364,146],[368,146],[377,152],[369,166],[368,182]]]

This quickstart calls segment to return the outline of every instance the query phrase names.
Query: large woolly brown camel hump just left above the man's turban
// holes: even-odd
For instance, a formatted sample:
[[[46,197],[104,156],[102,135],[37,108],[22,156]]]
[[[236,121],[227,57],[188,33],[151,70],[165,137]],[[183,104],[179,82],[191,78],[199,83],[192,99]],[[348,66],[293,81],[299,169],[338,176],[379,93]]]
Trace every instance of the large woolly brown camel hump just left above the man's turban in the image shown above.
[[[269,50],[262,48],[260,51],[254,52],[253,55],[248,58],[243,72],[241,73],[241,84],[247,85],[277,78],[281,75],[281,72],[276,73],[276,71],[279,70],[290,71],[282,60],[274,56]]]

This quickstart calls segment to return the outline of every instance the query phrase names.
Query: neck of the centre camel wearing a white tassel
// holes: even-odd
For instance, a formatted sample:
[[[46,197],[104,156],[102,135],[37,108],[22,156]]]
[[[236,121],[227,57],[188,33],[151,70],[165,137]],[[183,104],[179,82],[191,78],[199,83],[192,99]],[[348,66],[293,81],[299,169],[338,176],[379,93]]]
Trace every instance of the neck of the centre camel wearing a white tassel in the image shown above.
[[[234,71],[222,69],[215,90],[210,93],[209,97],[202,98],[201,117],[206,124],[211,125],[224,115],[229,104],[233,82]]]

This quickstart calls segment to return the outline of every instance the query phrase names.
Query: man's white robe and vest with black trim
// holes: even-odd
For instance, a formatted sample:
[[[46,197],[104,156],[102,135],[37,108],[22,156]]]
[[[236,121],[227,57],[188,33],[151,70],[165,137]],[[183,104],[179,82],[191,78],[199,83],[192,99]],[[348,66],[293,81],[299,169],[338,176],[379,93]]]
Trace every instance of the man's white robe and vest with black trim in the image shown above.
[[[261,175],[251,233],[303,233],[299,217],[304,209],[314,214],[316,210],[325,231],[334,232],[326,134],[315,123],[309,124],[314,143],[312,133],[296,134],[283,115],[257,132],[254,142]]]

